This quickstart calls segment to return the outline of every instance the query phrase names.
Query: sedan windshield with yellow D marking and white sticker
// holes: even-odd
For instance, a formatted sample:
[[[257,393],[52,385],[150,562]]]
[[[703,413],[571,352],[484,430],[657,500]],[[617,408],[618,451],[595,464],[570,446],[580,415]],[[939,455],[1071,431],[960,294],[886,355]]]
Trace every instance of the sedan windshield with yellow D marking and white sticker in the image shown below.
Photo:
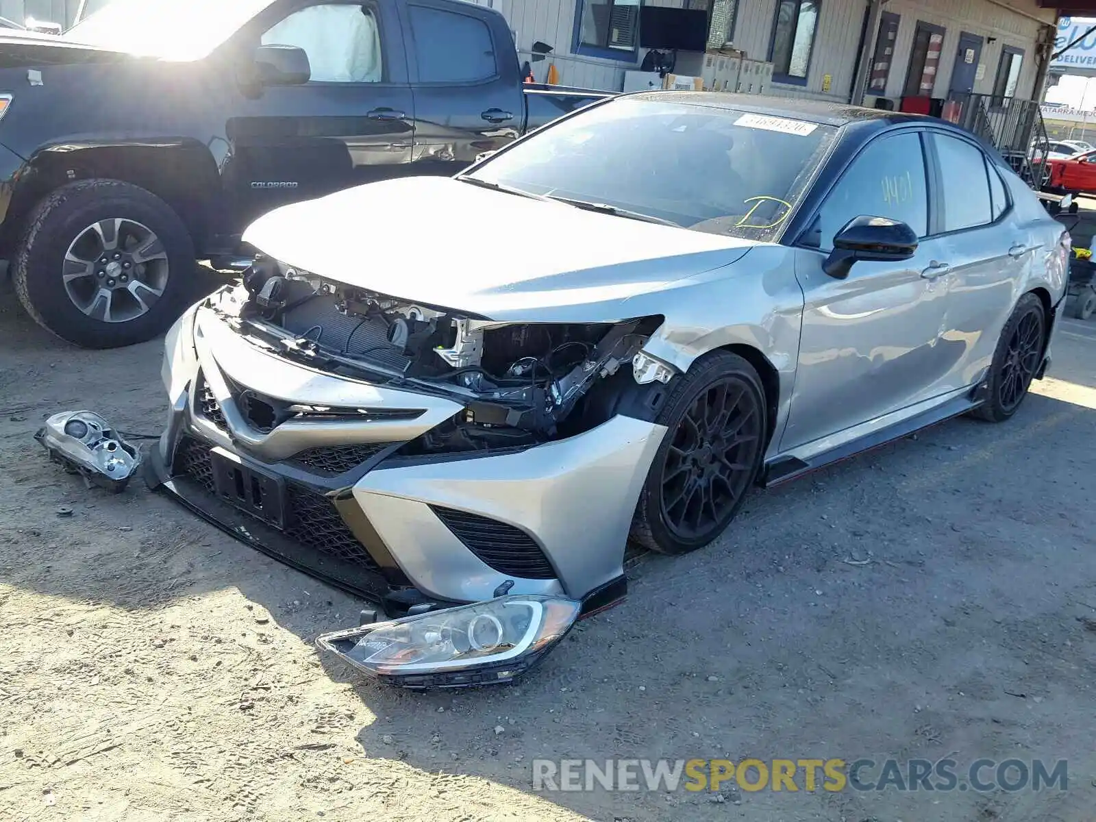
[[[769,240],[835,132],[803,119],[621,99],[561,121],[469,176]]]

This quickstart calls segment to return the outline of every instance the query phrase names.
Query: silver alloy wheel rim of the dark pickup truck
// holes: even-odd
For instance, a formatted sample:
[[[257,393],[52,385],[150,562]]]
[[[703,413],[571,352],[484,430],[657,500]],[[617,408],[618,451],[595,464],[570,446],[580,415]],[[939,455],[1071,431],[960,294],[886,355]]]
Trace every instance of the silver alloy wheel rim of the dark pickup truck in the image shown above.
[[[65,252],[61,278],[72,305],[103,322],[128,322],[163,296],[168,253],[152,230],[136,220],[88,226]]]

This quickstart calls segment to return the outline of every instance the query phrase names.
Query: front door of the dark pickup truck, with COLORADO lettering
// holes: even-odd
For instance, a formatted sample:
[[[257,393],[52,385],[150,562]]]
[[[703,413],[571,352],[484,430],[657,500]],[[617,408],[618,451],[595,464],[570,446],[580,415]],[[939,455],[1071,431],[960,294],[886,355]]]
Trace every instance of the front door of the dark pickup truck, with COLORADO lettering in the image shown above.
[[[267,11],[253,21],[250,45],[304,49],[311,79],[262,88],[227,123],[235,232],[277,206],[396,176],[411,162],[414,112],[396,4],[304,0]]]

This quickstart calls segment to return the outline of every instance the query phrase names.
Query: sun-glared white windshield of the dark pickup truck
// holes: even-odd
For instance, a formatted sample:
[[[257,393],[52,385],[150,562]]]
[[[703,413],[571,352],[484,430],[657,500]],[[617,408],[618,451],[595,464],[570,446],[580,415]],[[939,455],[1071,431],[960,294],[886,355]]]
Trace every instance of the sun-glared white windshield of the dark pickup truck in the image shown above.
[[[196,60],[273,0],[113,0],[65,38],[169,60]]]

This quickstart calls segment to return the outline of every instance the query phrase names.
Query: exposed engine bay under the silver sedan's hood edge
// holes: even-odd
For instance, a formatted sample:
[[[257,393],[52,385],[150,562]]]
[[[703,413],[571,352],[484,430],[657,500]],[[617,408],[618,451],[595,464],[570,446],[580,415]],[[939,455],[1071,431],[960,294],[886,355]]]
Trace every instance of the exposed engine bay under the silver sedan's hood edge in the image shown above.
[[[256,258],[229,300],[246,336],[349,376],[441,392],[465,404],[404,453],[522,447],[604,422],[591,389],[631,365],[628,381],[669,381],[640,349],[661,317],[607,323],[514,323],[411,304]],[[224,293],[222,293],[224,294]],[[625,375],[621,375],[621,378]]]

